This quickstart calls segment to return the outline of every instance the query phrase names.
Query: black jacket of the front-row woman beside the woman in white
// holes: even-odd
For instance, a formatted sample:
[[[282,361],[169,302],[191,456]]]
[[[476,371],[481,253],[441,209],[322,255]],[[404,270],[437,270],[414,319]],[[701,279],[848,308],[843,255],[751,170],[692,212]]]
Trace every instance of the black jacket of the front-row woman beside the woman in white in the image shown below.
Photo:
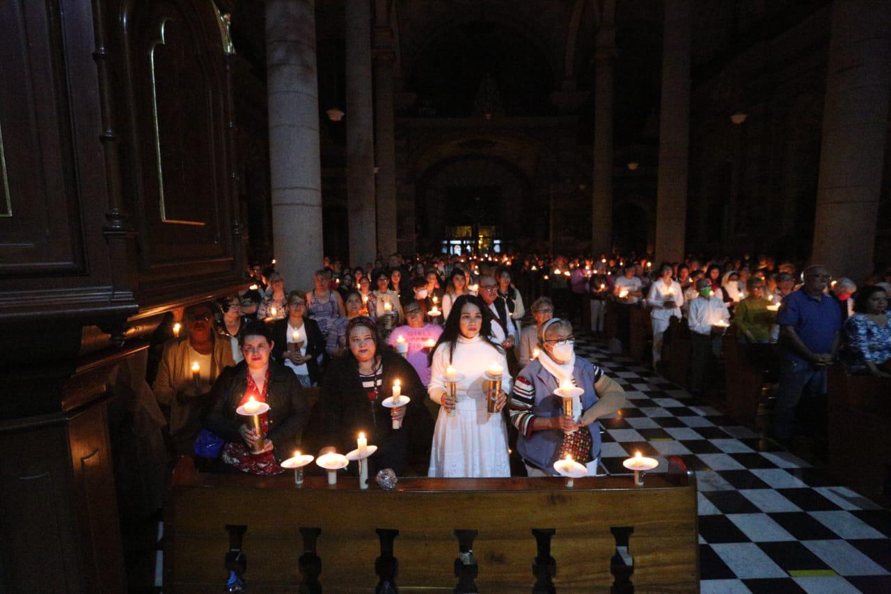
[[[383,358],[383,384],[378,399],[368,399],[359,369],[352,353],[347,352],[331,361],[325,373],[319,398],[322,413],[325,445],[332,445],[341,454],[356,449],[356,436],[365,433],[368,443],[378,446],[369,458],[369,469],[392,468],[396,474],[405,470],[409,444],[417,458],[429,452],[433,437],[433,423],[424,399],[427,390],[421,384],[414,367],[393,351],[385,350]],[[412,399],[405,410],[402,428],[393,429],[390,409],[381,402],[393,395],[393,382],[402,384],[402,394]],[[429,456],[429,454],[428,454]],[[413,456],[414,457],[414,456]]]

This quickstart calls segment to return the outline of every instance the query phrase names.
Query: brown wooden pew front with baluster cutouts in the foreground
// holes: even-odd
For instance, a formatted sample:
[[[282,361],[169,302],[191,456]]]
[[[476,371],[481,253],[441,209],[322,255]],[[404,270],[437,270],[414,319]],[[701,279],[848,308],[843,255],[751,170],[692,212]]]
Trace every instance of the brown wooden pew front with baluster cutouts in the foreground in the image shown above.
[[[692,474],[651,474],[642,487],[588,477],[572,489],[559,478],[405,478],[396,491],[324,481],[199,474],[184,458],[166,507],[165,592],[222,591],[225,559],[237,572],[239,552],[249,590],[263,592],[371,592],[385,580],[424,591],[699,589]]]

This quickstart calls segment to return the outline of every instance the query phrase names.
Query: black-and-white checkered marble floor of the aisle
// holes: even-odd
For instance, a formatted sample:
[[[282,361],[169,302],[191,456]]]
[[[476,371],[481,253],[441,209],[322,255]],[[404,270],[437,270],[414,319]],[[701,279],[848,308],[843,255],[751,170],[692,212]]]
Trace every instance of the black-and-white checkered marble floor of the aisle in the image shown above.
[[[649,367],[579,337],[576,354],[625,388],[602,425],[603,466],[679,456],[699,486],[702,592],[891,592],[891,513],[702,406]]]

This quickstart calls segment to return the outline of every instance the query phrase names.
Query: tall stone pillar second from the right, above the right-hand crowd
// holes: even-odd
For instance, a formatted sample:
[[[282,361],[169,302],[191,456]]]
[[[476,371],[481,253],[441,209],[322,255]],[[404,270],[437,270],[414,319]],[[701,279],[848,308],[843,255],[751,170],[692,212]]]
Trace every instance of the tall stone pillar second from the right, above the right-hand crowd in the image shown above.
[[[683,260],[687,225],[691,1],[668,0],[664,6],[655,257],[671,262]]]

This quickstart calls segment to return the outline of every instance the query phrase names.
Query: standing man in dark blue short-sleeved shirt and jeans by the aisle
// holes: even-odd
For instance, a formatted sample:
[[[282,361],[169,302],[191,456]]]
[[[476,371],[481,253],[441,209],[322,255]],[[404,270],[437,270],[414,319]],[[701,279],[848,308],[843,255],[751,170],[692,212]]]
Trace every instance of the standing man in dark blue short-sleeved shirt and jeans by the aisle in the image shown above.
[[[820,397],[826,393],[826,367],[838,350],[841,329],[838,303],[824,293],[829,271],[814,265],[805,268],[802,276],[805,284],[786,295],[777,316],[784,361],[773,432],[781,440],[792,436],[802,395]]]

